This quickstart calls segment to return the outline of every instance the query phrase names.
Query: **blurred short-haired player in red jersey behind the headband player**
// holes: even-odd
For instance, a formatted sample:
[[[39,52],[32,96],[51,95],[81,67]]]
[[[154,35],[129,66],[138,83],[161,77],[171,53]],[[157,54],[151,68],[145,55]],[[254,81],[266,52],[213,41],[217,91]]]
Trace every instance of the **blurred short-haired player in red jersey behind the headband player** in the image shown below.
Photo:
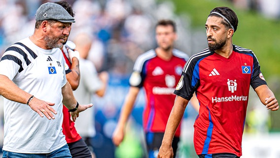
[[[168,117],[175,100],[173,93],[188,55],[173,47],[176,40],[175,23],[161,20],[156,25],[158,47],[141,54],[134,65],[129,80],[130,90],[122,107],[113,143],[118,146],[124,138],[125,123],[131,114],[140,88],[145,90],[146,106],[143,112],[143,129],[149,158],[156,158]],[[198,108],[197,103],[197,108]],[[176,152],[180,128],[175,132],[172,147]]]

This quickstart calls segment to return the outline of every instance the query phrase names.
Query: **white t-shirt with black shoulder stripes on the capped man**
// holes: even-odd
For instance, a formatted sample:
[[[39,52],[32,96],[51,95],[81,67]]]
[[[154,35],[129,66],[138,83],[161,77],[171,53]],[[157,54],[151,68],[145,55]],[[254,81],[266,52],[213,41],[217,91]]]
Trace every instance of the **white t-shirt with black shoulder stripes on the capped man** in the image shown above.
[[[55,119],[41,118],[28,105],[4,99],[3,150],[51,153],[66,143],[62,133],[62,87],[66,84],[64,58],[59,48],[45,50],[29,38],[11,45],[0,60],[0,75],[36,98],[55,103]],[[15,92],[16,93],[16,92]]]

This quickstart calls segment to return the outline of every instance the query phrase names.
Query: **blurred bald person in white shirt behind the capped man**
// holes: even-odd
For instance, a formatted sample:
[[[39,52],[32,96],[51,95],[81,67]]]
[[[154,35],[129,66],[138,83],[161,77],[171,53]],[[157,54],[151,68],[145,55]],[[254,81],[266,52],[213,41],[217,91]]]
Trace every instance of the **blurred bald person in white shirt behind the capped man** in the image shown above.
[[[105,71],[97,73],[93,62],[87,59],[92,45],[92,38],[90,35],[87,33],[79,33],[75,36],[73,41],[80,53],[79,61],[81,72],[80,84],[78,88],[73,91],[73,94],[77,99],[80,99],[80,103],[83,104],[83,102],[91,102],[94,94],[99,97],[104,96],[109,76]],[[83,115],[80,115],[79,119],[75,122],[76,130],[82,136],[92,154],[94,151],[91,140],[96,134],[94,118],[94,108],[91,108],[90,111],[88,109]]]

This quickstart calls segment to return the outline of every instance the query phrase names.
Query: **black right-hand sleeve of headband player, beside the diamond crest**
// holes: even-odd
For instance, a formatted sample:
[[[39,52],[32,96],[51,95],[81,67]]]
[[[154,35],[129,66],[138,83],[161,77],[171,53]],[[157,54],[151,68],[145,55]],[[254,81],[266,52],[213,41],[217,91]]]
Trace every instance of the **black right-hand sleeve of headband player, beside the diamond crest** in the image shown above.
[[[252,86],[253,89],[255,89],[256,87],[267,83],[262,75],[258,59],[254,53],[253,53],[253,63],[254,64],[253,64],[253,71],[252,71],[252,78],[251,78],[250,85]]]

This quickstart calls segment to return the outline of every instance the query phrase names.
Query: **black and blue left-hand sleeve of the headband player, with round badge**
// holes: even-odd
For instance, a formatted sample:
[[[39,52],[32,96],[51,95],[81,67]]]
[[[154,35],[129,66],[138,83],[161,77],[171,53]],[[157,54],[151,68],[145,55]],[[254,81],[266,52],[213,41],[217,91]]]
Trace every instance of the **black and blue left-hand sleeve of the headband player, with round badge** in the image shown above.
[[[181,79],[174,93],[182,98],[190,100],[199,85],[199,66],[194,60],[189,60],[184,66]]]

